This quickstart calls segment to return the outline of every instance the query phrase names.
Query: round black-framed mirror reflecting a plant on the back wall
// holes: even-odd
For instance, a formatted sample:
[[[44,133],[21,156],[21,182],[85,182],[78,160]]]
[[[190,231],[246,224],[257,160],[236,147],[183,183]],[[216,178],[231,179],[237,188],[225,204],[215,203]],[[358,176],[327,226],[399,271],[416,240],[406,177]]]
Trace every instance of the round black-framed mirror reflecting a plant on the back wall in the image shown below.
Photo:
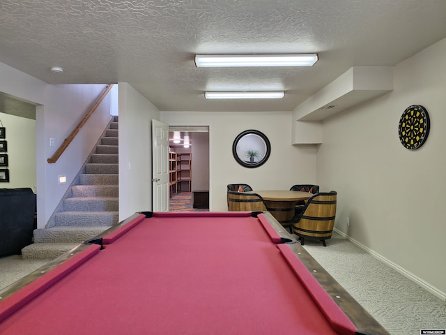
[[[257,168],[270,156],[271,145],[268,137],[260,131],[244,131],[232,144],[232,154],[237,163],[245,168]]]

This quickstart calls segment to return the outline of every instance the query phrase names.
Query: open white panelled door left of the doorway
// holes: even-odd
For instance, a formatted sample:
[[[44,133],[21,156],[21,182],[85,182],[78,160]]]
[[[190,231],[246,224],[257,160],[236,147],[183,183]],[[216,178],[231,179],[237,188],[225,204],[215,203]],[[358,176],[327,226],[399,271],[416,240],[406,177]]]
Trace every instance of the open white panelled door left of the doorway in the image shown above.
[[[152,120],[153,211],[169,211],[169,125]]]

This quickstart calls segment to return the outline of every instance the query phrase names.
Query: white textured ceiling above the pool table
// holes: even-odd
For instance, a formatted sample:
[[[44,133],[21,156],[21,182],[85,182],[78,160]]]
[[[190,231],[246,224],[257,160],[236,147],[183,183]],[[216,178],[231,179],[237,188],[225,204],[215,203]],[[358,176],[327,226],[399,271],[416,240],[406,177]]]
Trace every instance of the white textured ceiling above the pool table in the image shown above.
[[[394,66],[445,38],[445,17],[445,0],[0,0],[0,62],[50,84],[128,82],[160,110],[293,110],[352,66]],[[291,52],[319,61],[194,66],[198,53]],[[203,98],[235,89],[286,96]]]

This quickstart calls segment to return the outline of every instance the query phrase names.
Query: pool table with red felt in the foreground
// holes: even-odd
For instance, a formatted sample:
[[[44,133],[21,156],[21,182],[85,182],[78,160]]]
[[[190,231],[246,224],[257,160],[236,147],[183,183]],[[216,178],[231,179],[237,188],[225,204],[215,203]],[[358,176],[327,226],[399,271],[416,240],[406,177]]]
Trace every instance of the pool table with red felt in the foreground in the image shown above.
[[[387,334],[295,242],[268,212],[137,213],[0,291],[0,334]]]

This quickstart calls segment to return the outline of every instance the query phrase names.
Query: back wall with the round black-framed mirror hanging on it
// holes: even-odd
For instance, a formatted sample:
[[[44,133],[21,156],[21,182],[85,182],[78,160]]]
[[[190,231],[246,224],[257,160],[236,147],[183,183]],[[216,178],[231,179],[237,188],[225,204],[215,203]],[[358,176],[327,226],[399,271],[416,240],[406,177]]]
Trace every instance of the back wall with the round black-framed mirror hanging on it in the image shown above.
[[[291,145],[291,112],[161,112],[161,121],[209,126],[211,211],[227,211],[227,184],[287,190],[316,181],[315,147]],[[248,129],[261,131],[271,143],[270,158],[259,168],[244,168],[232,155],[233,141]]]

